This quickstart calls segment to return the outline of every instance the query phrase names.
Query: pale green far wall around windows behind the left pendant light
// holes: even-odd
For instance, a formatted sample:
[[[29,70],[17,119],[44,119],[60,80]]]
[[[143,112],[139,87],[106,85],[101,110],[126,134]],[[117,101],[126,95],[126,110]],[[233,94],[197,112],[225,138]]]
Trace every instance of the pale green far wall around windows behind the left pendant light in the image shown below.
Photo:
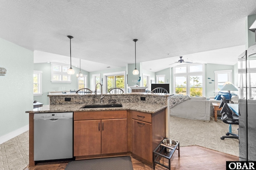
[[[78,82],[76,74],[79,73],[79,68],[76,68],[75,66],[72,66],[72,68],[75,70],[75,74],[71,75],[71,83],[52,83],[51,82],[51,63],[38,63],[34,64],[34,70],[40,70],[42,71],[42,96],[34,96],[34,100],[44,104],[48,105],[48,92],[56,91],[56,92],[62,92],[62,91],[69,91],[69,90],[78,90]],[[87,78],[89,75],[89,72],[85,70],[81,70],[82,74],[86,75]],[[87,84],[88,86],[88,84]]]

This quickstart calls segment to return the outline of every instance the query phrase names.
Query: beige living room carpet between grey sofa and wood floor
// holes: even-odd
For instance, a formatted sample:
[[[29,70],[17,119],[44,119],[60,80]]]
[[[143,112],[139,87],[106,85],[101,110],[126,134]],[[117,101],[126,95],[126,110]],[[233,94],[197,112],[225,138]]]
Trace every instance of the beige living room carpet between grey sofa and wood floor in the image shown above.
[[[238,134],[238,125],[232,125],[232,133]],[[170,116],[170,138],[180,142],[180,146],[198,145],[219,152],[239,156],[239,140],[224,139],[229,125],[211,117],[210,122]]]

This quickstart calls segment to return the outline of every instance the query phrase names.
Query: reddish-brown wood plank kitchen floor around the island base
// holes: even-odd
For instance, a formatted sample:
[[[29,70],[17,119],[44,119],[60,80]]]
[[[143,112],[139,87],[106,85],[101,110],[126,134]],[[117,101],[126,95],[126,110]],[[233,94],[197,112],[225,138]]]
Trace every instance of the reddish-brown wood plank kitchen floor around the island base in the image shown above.
[[[132,158],[134,170],[152,170],[153,167],[144,164],[136,158]],[[224,154],[215,150],[198,146],[180,147],[174,152],[171,159],[172,170],[226,170],[226,161],[238,161],[237,156]],[[36,166],[27,167],[25,170],[64,170],[67,162],[38,163]],[[168,166],[168,162],[164,162]],[[163,166],[156,165],[156,170],[166,170]]]

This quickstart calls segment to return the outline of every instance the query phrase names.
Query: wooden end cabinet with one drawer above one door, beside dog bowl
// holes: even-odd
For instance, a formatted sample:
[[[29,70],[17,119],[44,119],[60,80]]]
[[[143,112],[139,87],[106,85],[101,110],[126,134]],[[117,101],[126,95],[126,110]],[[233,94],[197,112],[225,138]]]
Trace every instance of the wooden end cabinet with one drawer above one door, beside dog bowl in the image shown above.
[[[153,150],[166,137],[166,109],[157,113],[132,113],[132,154],[152,164]]]

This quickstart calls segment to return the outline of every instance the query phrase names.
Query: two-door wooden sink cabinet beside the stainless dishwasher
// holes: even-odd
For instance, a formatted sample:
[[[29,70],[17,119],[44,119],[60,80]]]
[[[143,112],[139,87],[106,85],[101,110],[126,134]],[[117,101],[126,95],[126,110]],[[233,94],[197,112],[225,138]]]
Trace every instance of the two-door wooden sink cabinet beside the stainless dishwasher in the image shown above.
[[[74,112],[74,156],[121,152],[127,152],[126,110]]]

